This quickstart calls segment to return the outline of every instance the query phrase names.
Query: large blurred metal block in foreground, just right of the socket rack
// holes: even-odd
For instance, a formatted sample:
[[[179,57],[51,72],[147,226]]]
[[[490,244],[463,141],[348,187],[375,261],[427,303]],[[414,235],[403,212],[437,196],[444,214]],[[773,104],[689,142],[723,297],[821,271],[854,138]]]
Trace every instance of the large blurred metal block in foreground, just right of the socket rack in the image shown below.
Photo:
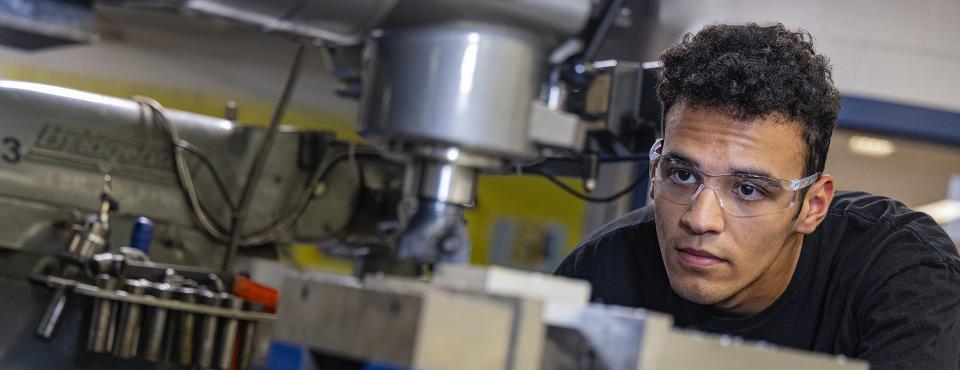
[[[416,369],[508,366],[509,304],[414,283],[372,285],[288,278],[274,338]]]

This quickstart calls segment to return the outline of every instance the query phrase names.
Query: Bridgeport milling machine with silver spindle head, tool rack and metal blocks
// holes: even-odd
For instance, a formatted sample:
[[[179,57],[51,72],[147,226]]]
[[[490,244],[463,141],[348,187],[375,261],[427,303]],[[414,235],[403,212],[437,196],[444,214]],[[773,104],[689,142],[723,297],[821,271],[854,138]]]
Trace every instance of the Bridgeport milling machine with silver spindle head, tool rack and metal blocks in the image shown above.
[[[70,292],[92,298],[84,348],[109,353],[118,361],[104,364],[97,357],[64,365],[17,359],[33,361],[27,367],[245,368],[254,335],[238,333],[255,332],[261,321],[275,321],[273,339],[307,346],[318,362],[329,364],[326,368],[338,369],[370,364],[416,369],[865,368],[856,361],[678,332],[664,315],[588,303],[585,282],[465,264],[469,243],[463,211],[476,202],[479,174],[523,168],[551,178],[573,173],[589,180],[599,162],[611,156],[636,160],[633,153],[643,153],[652,142],[652,123],[660,112],[644,103],[651,96],[643,91],[652,86],[655,66],[594,60],[623,1],[101,3],[175,8],[323,45],[337,64],[344,93],[360,97],[358,131],[377,150],[338,147],[323,133],[282,131],[276,115],[270,128],[253,129],[164,110],[148,99],[0,84],[7,96],[0,95],[0,101],[8,101],[4,114],[27,123],[10,131],[30,138],[18,150],[29,153],[31,160],[2,169],[15,174],[7,176],[11,189],[20,186],[20,194],[30,194],[28,188],[40,179],[74,185],[65,185],[64,192],[86,189],[90,195],[96,188],[101,193],[98,203],[84,207],[96,212],[67,227],[69,241],[51,237],[65,234],[50,222],[62,217],[60,210],[36,202],[12,205],[34,214],[8,231],[17,238],[9,244],[44,245],[42,251],[57,256],[33,273],[35,280],[53,288],[47,309],[31,316],[39,318],[37,334],[52,335],[63,320]],[[112,156],[117,163],[108,164],[117,168],[103,168],[103,161],[89,160],[97,158],[89,150],[76,149],[85,148],[77,137],[90,136],[110,138],[121,154],[124,145],[157,149]],[[274,142],[280,145],[271,145]],[[215,158],[218,163],[233,164],[228,181],[254,183],[243,187],[239,204],[229,196],[207,200],[206,205],[197,201],[196,188],[225,186],[214,175],[193,179],[185,153],[216,153],[216,148],[224,151],[223,158]],[[238,153],[239,160],[228,159]],[[341,159],[353,163],[367,157],[358,153],[369,154],[364,171],[385,181],[345,181],[336,187],[335,179],[354,178],[349,172],[355,168],[338,166],[344,163]],[[582,166],[573,171],[551,167],[563,162],[556,157],[574,158]],[[72,173],[61,168],[77,162],[87,167]],[[252,170],[245,172],[247,168]],[[260,171],[287,180],[257,186],[264,182]],[[179,187],[162,189],[152,181],[171,174]],[[352,201],[311,196],[318,179],[328,177],[334,184],[328,191]],[[591,182],[586,184],[589,189]],[[371,192],[388,196],[368,197]],[[402,199],[390,196],[399,192]],[[61,204],[75,204],[79,195],[62,196]],[[14,197],[4,201],[23,203]],[[184,206],[161,206],[164,203]],[[136,211],[121,213],[119,220],[111,216],[123,212],[125,204]],[[275,225],[243,218],[248,210],[277,209],[295,212]],[[206,268],[150,261],[137,236],[153,226],[133,217],[136,214],[153,218],[156,234],[192,238],[193,248],[226,248],[219,249],[222,253],[197,253],[206,257],[187,261]],[[392,218],[400,224],[396,233],[357,224]],[[36,221],[40,219],[46,222]],[[256,219],[272,220],[249,218]],[[116,239],[117,233],[108,231],[125,227],[134,229],[134,248],[116,248],[122,241],[110,247],[107,240]],[[28,229],[28,237],[14,231]],[[262,231],[241,235],[238,230]],[[370,240],[351,236],[372,237],[374,242],[367,243],[385,245],[381,250],[386,256],[369,258],[355,277],[288,278],[273,316],[230,294],[233,290],[226,286],[231,285],[238,248],[282,240],[284,235],[338,238],[345,244]],[[203,258],[224,263],[210,268],[217,263]],[[391,274],[398,271],[422,278]],[[81,338],[61,338],[49,345],[69,349],[64,343],[75,345]],[[62,358],[72,357],[68,353]]]

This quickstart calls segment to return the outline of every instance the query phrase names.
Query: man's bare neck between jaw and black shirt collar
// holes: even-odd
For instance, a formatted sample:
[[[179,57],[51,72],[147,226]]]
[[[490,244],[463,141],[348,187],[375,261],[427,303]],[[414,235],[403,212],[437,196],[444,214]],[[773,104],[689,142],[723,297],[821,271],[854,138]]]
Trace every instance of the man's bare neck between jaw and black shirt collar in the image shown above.
[[[712,306],[733,316],[752,316],[760,313],[783,295],[793,279],[803,249],[803,234],[787,238],[774,262],[760,277],[742,290]]]

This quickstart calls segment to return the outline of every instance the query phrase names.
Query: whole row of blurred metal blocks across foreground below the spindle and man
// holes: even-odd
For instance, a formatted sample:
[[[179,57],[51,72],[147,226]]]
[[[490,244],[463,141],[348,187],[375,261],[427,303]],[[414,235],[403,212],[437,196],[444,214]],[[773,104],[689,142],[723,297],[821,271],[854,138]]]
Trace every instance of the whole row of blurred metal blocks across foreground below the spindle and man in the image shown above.
[[[476,273],[486,271],[486,276]],[[432,283],[398,277],[288,278],[280,295],[275,338],[307,345],[327,356],[410,368],[460,369],[463,356],[506,345],[485,369],[862,370],[863,361],[810,353],[673,328],[665,314],[557,300],[541,310],[541,293],[501,285],[537,274],[445,266]],[[497,277],[495,275],[502,275]],[[553,279],[553,278],[548,278]],[[499,282],[497,282],[499,281]],[[572,292],[572,291],[571,291]],[[585,297],[584,297],[585,299]],[[549,298],[547,299],[549,300]],[[561,301],[567,301],[563,304]],[[563,307],[560,307],[563,306]],[[490,308],[496,309],[488,310]],[[499,311],[505,309],[504,311]],[[499,313],[498,313],[499,311]],[[498,319],[505,314],[509,320]],[[506,325],[506,328],[500,325]],[[546,324],[546,328],[544,327]],[[491,329],[494,329],[491,331]],[[505,329],[505,332],[499,330]],[[502,335],[491,336],[491,332]],[[466,334],[466,342],[463,342]],[[497,338],[496,340],[492,340]],[[469,354],[461,354],[466,347]],[[437,366],[436,359],[459,359]],[[488,353],[489,355],[489,353]],[[531,358],[531,355],[535,355]],[[476,357],[477,361],[490,360]],[[433,364],[428,366],[428,364]]]

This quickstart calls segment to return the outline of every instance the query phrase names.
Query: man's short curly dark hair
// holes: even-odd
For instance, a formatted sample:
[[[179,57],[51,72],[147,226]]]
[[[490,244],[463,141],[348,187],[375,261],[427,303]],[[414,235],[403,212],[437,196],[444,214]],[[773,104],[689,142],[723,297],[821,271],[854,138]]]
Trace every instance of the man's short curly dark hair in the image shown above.
[[[840,94],[809,33],[780,23],[710,25],[686,34],[661,60],[657,97],[665,112],[683,102],[739,120],[782,114],[800,123],[806,175],[823,171]]]

